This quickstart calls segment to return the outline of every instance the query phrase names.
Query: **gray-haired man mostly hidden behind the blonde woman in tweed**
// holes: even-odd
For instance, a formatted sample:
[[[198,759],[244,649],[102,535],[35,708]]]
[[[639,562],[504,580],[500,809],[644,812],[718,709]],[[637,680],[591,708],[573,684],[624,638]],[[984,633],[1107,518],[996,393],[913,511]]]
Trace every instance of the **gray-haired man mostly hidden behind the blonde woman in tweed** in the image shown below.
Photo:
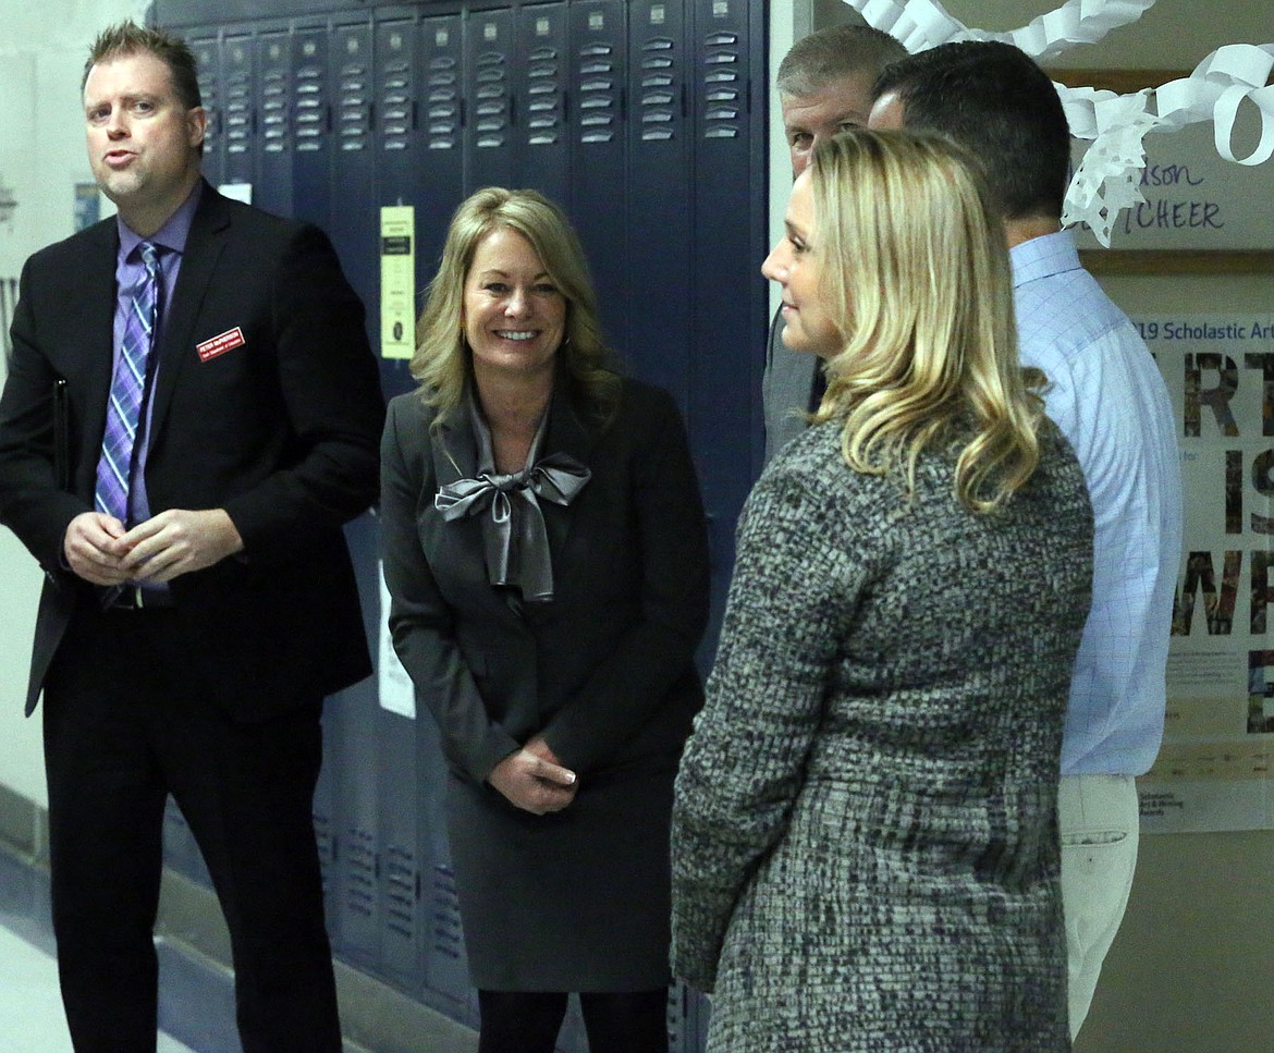
[[[814,145],[847,127],[862,127],[871,110],[871,85],[880,71],[907,50],[870,25],[831,25],[803,37],[778,65],[775,88],[784,112],[784,136],[795,180]],[[766,347],[762,402],[766,414],[766,461],[792,437],[817,408],[823,372],[814,354],[782,345],[782,312],[775,315]]]

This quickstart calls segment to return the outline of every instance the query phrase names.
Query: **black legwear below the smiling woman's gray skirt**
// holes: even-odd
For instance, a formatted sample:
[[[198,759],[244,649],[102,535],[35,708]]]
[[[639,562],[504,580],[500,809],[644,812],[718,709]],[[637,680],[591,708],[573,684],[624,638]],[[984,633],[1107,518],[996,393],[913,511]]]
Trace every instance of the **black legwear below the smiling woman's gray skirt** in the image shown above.
[[[478,1053],[553,1053],[561,992],[479,991]],[[668,988],[580,996],[589,1053],[668,1053]]]

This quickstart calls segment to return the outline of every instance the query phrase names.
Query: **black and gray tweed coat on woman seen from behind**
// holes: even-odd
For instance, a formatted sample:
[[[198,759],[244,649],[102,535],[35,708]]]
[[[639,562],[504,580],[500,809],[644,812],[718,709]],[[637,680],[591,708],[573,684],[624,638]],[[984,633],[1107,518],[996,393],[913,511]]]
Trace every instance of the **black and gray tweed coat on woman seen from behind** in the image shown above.
[[[1056,790],[1092,511],[1065,441],[1003,515],[906,510],[840,427],[744,507],[676,780],[673,968],[708,1050],[1070,1048]]]

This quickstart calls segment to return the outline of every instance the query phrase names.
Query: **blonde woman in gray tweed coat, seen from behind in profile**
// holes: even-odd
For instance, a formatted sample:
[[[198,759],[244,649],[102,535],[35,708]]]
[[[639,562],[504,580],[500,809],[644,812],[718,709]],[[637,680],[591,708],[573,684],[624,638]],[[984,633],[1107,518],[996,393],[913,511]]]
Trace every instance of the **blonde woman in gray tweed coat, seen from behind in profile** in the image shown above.
[[[739,523],[676,780],[673,966],[710,1053],[1060,1053],[1057,762],[1083,476],[1018,366],[1004,232],[953,145],[815,152],[763,272],[826,359]]]

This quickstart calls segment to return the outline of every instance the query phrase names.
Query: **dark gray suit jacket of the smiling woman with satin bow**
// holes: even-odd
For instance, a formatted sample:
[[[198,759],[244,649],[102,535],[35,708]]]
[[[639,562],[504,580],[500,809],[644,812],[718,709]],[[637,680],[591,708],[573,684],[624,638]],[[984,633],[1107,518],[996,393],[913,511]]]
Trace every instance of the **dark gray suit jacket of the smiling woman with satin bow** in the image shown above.
[[[541,455],[567,453],[592,477],[566,509],[540,502],[554,598],[539,604],[488,583],[476,518],[447,523],[433,506],[440,484],[475,476],[468,409],[434,437],[418,393],[390,403],[390,628],[450,765],[475,783],[539,732],[581,774],[675,757],[703,700],[693,658],[707,621],[707,532],[676,407],[626,381],[603,428],[564,388],[559,377]]]

